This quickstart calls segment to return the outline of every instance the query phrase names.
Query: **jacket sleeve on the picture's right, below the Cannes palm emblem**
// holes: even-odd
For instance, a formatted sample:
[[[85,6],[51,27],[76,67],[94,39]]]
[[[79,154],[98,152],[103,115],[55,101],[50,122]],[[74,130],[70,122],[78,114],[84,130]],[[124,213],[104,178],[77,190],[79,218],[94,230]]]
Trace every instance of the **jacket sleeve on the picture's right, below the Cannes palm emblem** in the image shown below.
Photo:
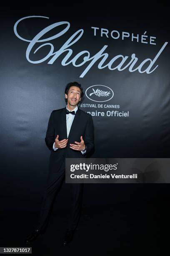
[[[89,115],[87,126],[85,129],[85,146],[87,147],[86,153],[90,153],[94,149],[94,125],[91,115]]]

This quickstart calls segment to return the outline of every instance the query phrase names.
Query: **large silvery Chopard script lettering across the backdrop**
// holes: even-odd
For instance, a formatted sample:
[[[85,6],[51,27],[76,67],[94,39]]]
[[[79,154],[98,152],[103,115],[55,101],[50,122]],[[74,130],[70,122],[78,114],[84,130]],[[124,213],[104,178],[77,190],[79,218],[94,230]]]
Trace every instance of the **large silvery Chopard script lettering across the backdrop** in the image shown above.
[[[63,34],[65,34],[68,29],[70,28],[70,23],[67,21],[60,21],[51,24],[50,26],[47,26],[46,28],[42,29],[39,33],[37,33],[36,36],[32,38],[32,40],[28,40],[26,38],[23,38],[20,36],[18,33],[18,24],[25,19],[28,18],[45,18],[49,19],[48,17],[45,16],[27,16],[24,18],[19,19],[15,25],[14,25],[14,33],[15,35],[20,38],[21,40],[28,42],[28,47],[26,50],[26,58],[27,60],[32,63],[32,64],[38,64],[46,61],[48,59],[47,64],[53,64],[56,59],[62,55],[62,53],[66,54],[64,58],[61,61],[62,66],[67,66],[69,64],[72,64],[74,67],[80,67],[86,62],[88,63],[87,67],[84,69],[82,74],[80,74],[80,77],[84,77],[85,74],[92,68],[92,66],[98,62],[98,69],[105,69],[108,68],[110,70],[118,70],[122,71],[125,69],[129,69],[129,72],[135,72],[138,71],[139,73],[147,73],[150,74],[152,73],[158,65],[154,65],[155,62],[157,61],[158,57],[162,53],[162,51],[165,49],[166,45],[168,42],[165,42],[161,49],[158,51],[158,53],[155,55],[154,59],[144,59],[140,61],[137,56],[135,56],[135,53],[130,54],[130,56],[123,56],[121,54],[116,55],[116,56],[109,56],[105,50],[107,49],[108,45],[104,45],[101,49],[99,48],[100,46],[94,46],[95,48],[99,48],[100,50],[92,56],[89,51],[83,50],[80,51],[78,54],[73,54],[73,50],[70,48],[73,44],[75,44],[83,35],[84,30],[79,29],[77,30],[70,38],[67,39],[67,41],[59,48],[57,51],[54,49],[54,45],[51,44],[53,39],[59,38]],[[65,25],[66,27],[62,29],[61,25]],[[48,32],[51,31],[53,28],[56,28],[58,26],[61,26],[61,30],[59,33],[55,34],[54,36],[47,37]],[[44,38],[46,36],[46,38]],[[42,39],[44,38],[44,39]],[[47,43],[44,43],[47,42]],[[38,44],[38,46],[37,46]],[[35,46],[37,48],[35,49]],[[30,53],[33,51],[32,49],[34,48],[33,54],[35,54],[39,49],[48,46],[50,47],[49,52],[47,53],[46,56],[43,56],[42,59],[38,60],[31,60],[30,59]],[[108,49],[107,49],[108,50]],[[42,53],[44,54],[44,53]],[[45,51],[46,54],[46,51]],[[38,55],[37,55],[38,56]],[[39,57],[40,58],[40,57]],[[155,66],[155,67],[154,67]]]

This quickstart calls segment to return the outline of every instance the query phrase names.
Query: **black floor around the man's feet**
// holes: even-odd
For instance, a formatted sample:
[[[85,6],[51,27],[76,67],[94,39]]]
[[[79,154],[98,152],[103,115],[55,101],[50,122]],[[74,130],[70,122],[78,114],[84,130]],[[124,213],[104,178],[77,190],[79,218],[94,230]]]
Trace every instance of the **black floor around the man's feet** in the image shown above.
[[[36,256],[160,255],[166,202],[138,202],[83,208],[72,243],[62,247],[67,211],[53,212],[46,233],[32,243]],[[8,212],[1,219],[0,246],[22,246],[37,212]],[[167,216],[168,217],[168,216]],[[162,251],[162,250],[161,250]]]

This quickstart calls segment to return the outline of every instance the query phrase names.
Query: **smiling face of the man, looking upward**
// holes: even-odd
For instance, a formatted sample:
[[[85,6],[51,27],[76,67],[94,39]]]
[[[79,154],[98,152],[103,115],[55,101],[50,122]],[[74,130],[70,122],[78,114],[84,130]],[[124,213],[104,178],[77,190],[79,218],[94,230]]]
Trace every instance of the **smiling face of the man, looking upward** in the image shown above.
[[[68,95],[65,94],[65,98],[67,99],[67,104],[72,107],[76,107],[78,102],[81,100],[81,90],[77,86],[71,86]]]

